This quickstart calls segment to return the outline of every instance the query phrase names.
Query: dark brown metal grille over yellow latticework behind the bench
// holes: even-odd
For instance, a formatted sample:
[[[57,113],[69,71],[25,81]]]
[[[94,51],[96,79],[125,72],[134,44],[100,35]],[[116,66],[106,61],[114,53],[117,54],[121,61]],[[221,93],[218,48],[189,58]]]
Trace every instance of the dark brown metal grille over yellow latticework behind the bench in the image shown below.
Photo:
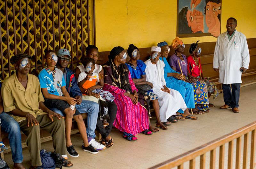
[[[37,75],[44,53],[60,48],[70,51],[73,70],[89,44],[87,11],[87,0],[0,0],[0,78],[13,74],[13,55],[31,55],[31,73]]]

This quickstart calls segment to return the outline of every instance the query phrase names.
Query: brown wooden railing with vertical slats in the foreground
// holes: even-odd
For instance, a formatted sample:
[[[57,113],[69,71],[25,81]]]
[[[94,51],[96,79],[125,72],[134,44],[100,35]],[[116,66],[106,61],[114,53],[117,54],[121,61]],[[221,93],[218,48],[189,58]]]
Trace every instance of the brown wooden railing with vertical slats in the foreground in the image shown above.
[[[216,148],[220,147],[219,156],[219,169],[224,169],[224,157],[225,157],[225,144],[228,143],[228,169],[233,167],[233,158],[236,158],[235,168],[239,169],[242,164],[240,164],[240,158],[242,153],[242,136],[244,136],[243,145],[243,169],[247,168],[247,160],[250,158],[250,169],[255,169],[255,142],[256,142],[256,121],[237,129],[225,136],[215,139],[209,143],[206,143],[200,147],[197,147],[191,151],[183,153],[177,157],[167,160],[163,163],[151,167],[153,168],[173,168],[178,167],[178,169],[184,168],[184,163],[189,161],[189,169],[205,169],[206,168],[206,153],[210,151],[210,169],[215,169],[216,162]],[[248,142],[250,140],[249,133],[251,132],[251,153],[250,157],[248,155]],[[236,157],[233,157],[234,141],[236,140]],[[200,165],[196,167],[196,157],[200,156]],[[208,168],[208,166],[207,166]],[[226,167],[225,167],[226,168]]]

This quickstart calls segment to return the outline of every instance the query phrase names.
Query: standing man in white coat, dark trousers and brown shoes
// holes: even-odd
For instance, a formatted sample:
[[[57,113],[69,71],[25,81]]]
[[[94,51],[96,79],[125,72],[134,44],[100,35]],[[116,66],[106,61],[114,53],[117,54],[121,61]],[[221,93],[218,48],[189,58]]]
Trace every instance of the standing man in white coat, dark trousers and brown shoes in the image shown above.
[[[236,19],[228,18],[227,32],[221,33],[216,42],[213,69],[219,72],[222,83],[225,105],[220,108],[231,107],[234,113],[239,113],[241,76],[249,68],[250,55],[246,37],[236,30],[236,26]]]

